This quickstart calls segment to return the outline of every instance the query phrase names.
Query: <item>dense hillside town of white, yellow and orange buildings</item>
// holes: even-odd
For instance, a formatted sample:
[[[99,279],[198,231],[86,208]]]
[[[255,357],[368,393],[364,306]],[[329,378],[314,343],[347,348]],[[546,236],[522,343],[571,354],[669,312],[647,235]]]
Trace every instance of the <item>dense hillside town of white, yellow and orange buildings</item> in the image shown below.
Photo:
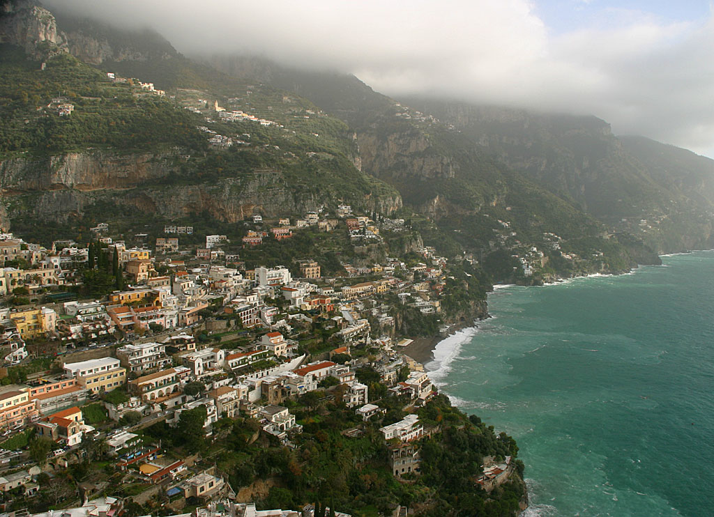
[[[182,236],[195,234],[178,225],[144,247],[114,238],[108,223],[91,228],[89,243],[56,241],[51,249],[0,235],[0,295],[8,305],[0,309],[3,515],[50,516],[47,508],[133,515],[134,507],[161,515],[348,516],[340,508],[315,513],[316,505],[258,510],[255,483],[236,486],[203,454],[237,422],[250,422],[250,443],[299,450],[312,415],[332,407],[352,415],[343,436],[381,436],[395,478],[418,476],[419,444],[439,431],[418,411],[436,388],[423,364],[401,353],[412,339],[396,331],[395,317],[408,307],[440,321],[446,259],[421,247],[412,253],[418,261],[343,263],[338,277],[323,276],[311,257],[246,269],[241,249],[263,240],[299,239],[313,228],[361,243],[405,223],[339,205],[296,220],[256,214],[246,224],[242,242],[206,235],[202,247],[184,247]],[[79,295],[110,273],[103,296]],[[159,428],[186,439],[176,446]],[[487,469],[474,486],[496,486],[493,473],[506,481],[513,466],[503,461],[505,469]],[[61,483],[71,508],[41,495],[62,471],[91,462],[103,465],[91,483]],[[117,482],[134,489],[116,493]],[[406,515],[399,505],[392,511]]]

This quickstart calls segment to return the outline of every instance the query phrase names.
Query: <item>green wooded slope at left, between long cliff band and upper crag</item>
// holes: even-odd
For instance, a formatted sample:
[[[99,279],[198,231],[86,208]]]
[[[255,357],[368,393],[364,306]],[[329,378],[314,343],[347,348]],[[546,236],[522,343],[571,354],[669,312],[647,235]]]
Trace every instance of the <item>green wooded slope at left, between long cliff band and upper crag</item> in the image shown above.
[[[91,145],[121,149],[182,146],[205,149],[200,121],[158,96],[134,93],[131,84],[61,53],[41,63],[19,48],[0,46],[0,153],[16,150],[58,153]],[[53,98],[74,106],[59,116]]]

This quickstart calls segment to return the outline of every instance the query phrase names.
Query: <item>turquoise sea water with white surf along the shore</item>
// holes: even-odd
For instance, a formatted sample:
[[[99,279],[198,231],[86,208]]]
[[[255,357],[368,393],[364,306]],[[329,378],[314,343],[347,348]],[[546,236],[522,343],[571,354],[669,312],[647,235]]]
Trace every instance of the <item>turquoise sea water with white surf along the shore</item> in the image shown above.
[[[530,516],[714,516],[714,252],[505,287],[441,390],[518,441]]]

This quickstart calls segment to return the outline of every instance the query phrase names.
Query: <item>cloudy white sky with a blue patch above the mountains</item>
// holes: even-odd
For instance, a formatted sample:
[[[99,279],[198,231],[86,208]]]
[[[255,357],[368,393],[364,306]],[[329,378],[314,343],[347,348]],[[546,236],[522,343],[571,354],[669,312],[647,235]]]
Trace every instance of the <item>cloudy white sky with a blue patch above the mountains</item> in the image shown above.
[[[334,68],[390,96],[594,114],[714,158],[708,0],[45,0],[183,53]]]

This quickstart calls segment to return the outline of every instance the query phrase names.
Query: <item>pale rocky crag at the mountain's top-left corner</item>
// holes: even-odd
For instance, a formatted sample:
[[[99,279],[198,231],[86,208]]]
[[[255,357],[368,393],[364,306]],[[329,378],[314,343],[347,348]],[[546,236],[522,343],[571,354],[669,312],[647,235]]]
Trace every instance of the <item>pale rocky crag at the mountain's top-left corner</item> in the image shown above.
[[[64,34],[57,29],[50,11],[31,1],[11,1],[2,6],[0,43],[11,43],[24,48],[33,58],[46,56],[47,51],[66,51]],[[46,48],[49,43],[51,48]]]

